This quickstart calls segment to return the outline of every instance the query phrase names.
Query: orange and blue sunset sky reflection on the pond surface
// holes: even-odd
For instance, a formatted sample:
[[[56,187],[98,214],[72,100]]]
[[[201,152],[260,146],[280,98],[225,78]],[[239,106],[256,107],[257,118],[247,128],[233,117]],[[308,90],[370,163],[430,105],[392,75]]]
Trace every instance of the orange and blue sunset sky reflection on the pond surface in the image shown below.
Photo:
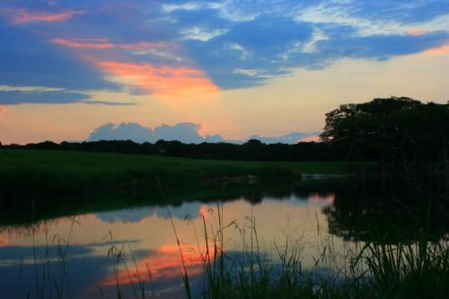
[[[317,256],[317,240],[322,241],[329,237],[326,217],[322,215],[321,209],[329,206],[333,198],[333,195],[322,196],[314,193],[309,197],[292,194],[283,197],[282,200],[263,198],[263,201],[256,205],[251,205],[243,198],[236,198],[223,204],[224,224],[235,222],[240,228],[246,227],[246,234],[249,237],[250,224],[246,217],[252,215],[256,219],[262,249],[270,252],[273,241],[285,242],[287,236],[301,242],[304,246],[304,265],[312,265],[312,261],[306,258]],[[214,212],[211,212],[212,210]],[[206,251],[200,232],[203,227],[202,216],[207,218],[207,226],[216,225],[216,203],[183,203],[177,207],[170,207],[170,211],[192,278],[192,287],[198,292],[202,287],[198,251]],[[186,215],[190,215],[193,223],[185,221]],[[99,286],[103,295],[114,296],[116,277],[113,272],[113,259],[107,257],[112,244],[110,236],[118,247],[128,242],[133,249],[136,265],[133,265],[129,255],[126,256],[129,274],[134,277],[138,270],[146,281],[147,290],[151,289],[147,275],[149,270],[154,279],[155,292],[160,297],[184,296],[180,278],[180,254],[166,207],[139,207],[78,215],[76,220],[79,224],[74,224],[70,236],[71,245],[67,249],[69,259],[66,263],[69,281],[66,289],[70,288],[74,298],[100,297]],[[12,228],[1,231],[0,289],[5,297],[20,298],[21,289],[30,290],[31,296],[35,295],[33,292],[36,290],[36,272],[32,259],[34,253],[38,259],[42,259],[48,251],[48,257],[53,260],[49,267],[50,275],[59,277],[61,267],[57,261],[57,240],[68,238],[71,225],[72,218],[69,217],[40,224],[34,233],[34,251],[31,229]],[[242,236],[236,225],[225,229],[227,251],[241,250],[241,241]],[[62,244],[64,245],[64,242]],[[336,246],[341,245],[342,242],[337,240]],[[45,271],[47,271],[45,275],[48,275],[48,269],[45,270],[40,264],[38,262],[37,269],[42,280]],[[123,286],[122,291],[125,293],[131,292],[128,271],[120,267],[118,273],[119,282],[128,285]],[[26,295],[25,291],[23,295]]]

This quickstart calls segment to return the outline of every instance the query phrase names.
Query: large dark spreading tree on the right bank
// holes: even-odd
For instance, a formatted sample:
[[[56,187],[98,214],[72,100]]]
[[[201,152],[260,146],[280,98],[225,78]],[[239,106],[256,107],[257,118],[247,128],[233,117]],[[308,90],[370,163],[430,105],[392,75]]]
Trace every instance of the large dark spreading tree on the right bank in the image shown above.
[[[449,104],[407,97],[343,104],[326,114],[321,138],[350,160],[375,161],[387,174],[449,171]]]

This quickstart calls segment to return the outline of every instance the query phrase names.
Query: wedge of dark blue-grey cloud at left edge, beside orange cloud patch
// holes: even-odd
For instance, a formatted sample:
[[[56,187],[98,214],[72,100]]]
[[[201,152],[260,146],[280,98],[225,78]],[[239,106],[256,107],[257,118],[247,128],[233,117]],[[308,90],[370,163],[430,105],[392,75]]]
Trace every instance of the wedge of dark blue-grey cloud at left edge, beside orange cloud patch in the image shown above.
[[[45,34],[55,27],[49,26]],[[33,26],[33,28],[38,28]],[[43,34],[43,33],[42,33]],[[48,42],[40,34],[22,26],[0,22],[0,84],[45,86],[66,90],[118,90],[104,74],[80,56]]]

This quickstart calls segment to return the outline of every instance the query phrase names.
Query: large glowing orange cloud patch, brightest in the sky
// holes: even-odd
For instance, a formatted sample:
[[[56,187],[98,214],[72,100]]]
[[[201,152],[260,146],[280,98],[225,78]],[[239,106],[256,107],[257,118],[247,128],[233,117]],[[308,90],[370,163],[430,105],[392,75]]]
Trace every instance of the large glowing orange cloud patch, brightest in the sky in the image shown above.
[[[194,67],[154,66],[151,64],[101,61],[98,66],[119,80],[136,85],[161,99],[216,96],[218,87]]]

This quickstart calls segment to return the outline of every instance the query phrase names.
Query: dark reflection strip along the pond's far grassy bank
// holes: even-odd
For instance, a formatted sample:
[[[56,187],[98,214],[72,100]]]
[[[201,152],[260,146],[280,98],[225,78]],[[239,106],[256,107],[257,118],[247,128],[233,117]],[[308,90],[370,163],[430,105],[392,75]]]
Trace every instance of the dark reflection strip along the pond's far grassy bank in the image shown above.
[[[0,200],[0,229],[5,225],[28,226],[39,224],[42,220],[55,219],[61,216],[75,215],[79,211],[101,212],[123,208],[136,207],[180,207],[189,201],[216,204],[216,201],[230,202],[243,199],[251,204],[260,204],[264,198],[275,200],[288,200],[295,195],[300,200],[307,200],[310,196],[330,196],[341,185],[341,180],[321,180],[302,182],[263,182],[243,185],[223,186],[189,186],[178,189],[180,193],[174,193],[166,189],[166,198],[162,198],[159,192],[145,192],[142,194],[123,194],[114,192],[111,194],[92,194],[73,198],[58,197],[57,203],[52,200],[34,198],[33,204],[23,204],[21,200]],[[193,191],[192,191],[193,189]],[[206,190],[209,190],[208,192]],[[200,191],[200,192],[198,192]],[[195,197],[189,196],[198,192]],[[183,219],[184,217],[180,218]]]

